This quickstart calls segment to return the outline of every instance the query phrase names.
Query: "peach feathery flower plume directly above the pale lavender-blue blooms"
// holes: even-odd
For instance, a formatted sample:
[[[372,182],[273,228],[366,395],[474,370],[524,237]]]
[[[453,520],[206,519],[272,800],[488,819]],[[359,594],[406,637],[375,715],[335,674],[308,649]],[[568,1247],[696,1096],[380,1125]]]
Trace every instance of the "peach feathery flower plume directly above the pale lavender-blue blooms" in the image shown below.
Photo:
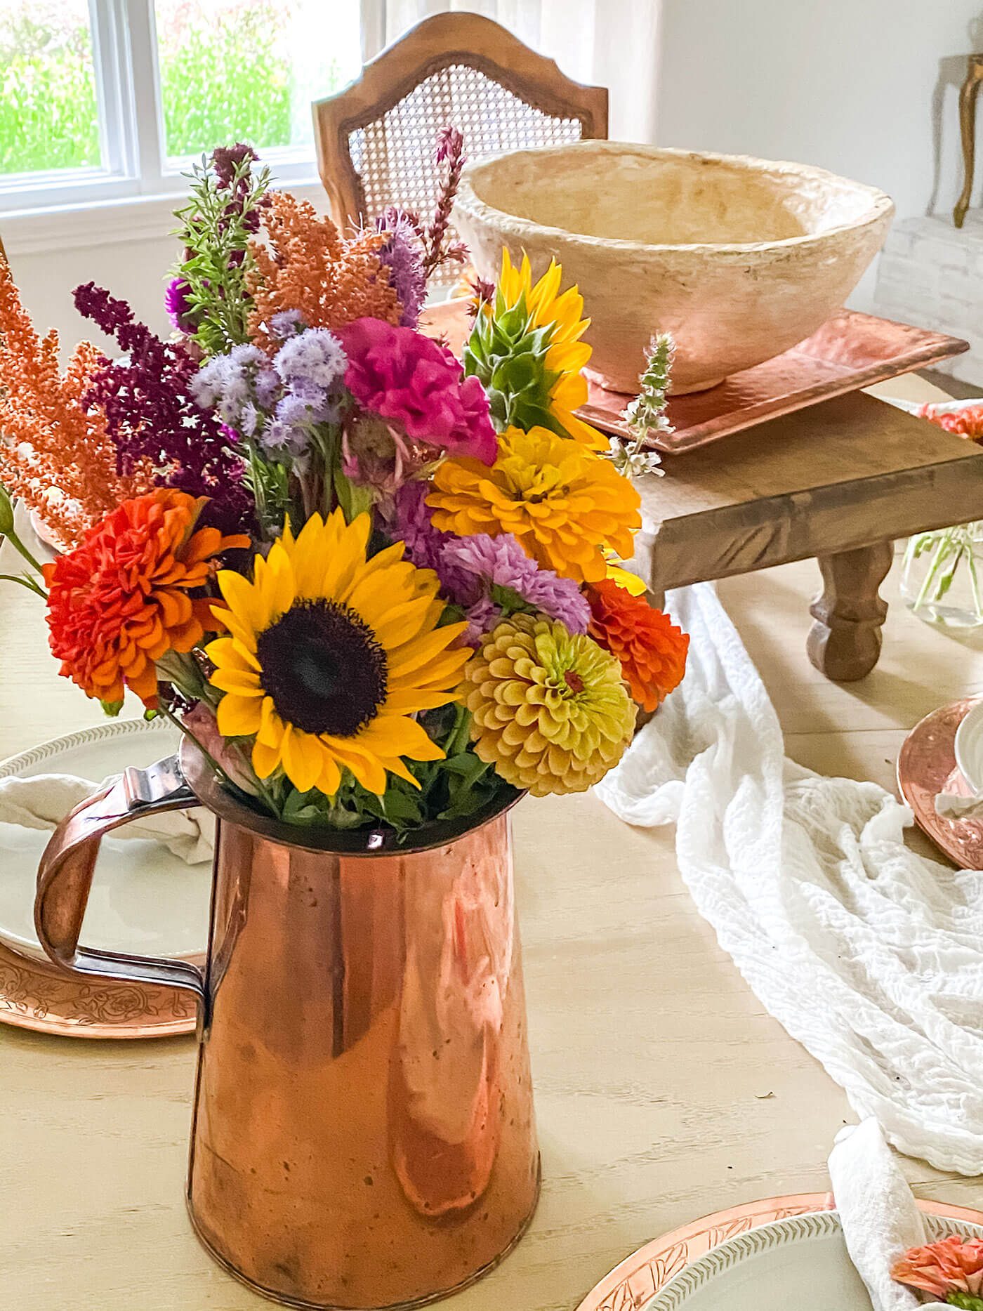
[[[387,233],[343,237],[330,219],[290,191],[270,195],[263,225],[269,245],[258,239],[249,244],[254,341],[270,341],[270,320],[283,309],[296,311],[308,328],[341,328],[366,317],[398,324],[402,307],[376,253]]]

